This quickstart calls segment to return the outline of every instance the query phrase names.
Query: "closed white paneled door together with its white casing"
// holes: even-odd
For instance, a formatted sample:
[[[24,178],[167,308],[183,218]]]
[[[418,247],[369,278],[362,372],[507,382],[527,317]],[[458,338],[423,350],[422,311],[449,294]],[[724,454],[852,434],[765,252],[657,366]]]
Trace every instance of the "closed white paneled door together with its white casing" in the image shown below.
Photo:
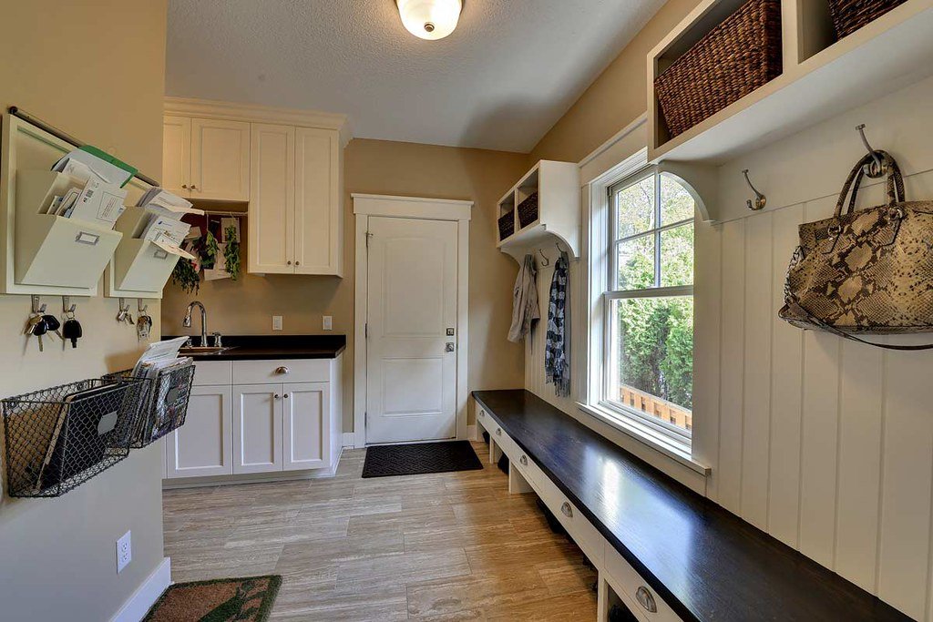
[[[355,446],[466,438],[473,203],[352,196],[355,334],[360,336],[354,351]],[[369,248],[367,233],[373,234]],[[371,291],[370,280],[377,282]],[[447,352],[448,342],[453,352]]]

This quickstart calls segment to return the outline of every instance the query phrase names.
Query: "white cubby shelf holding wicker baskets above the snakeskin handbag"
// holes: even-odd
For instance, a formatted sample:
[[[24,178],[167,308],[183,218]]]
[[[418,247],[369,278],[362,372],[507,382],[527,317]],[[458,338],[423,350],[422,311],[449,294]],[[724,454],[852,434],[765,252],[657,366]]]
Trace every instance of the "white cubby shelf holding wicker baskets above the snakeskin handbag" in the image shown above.
[[[667,140],[653,77],[733,0],[706,0],[648,54],[648,159],[721,164],[933,75],[933,0],[909,0],[829,43],[821,3],[783,0],[784,73]]]

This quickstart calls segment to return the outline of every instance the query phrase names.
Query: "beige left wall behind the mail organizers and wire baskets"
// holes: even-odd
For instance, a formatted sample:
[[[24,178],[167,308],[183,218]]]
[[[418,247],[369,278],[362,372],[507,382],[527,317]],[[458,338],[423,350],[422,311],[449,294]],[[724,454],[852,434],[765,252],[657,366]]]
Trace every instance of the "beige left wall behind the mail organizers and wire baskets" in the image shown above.
[[[165,21],[164,0],[4,3],[0,105],[21,106],[158,176]],[[61,309],[61,299],[45,301]],[[40,354],[20,336],[29,297],[0,297],[0,394],[132,364],[139,346],[132,327],[114,321],[117,300],[76,302],[86,338],[77,350],[48,345]],[[150,311],[158,318],[158,305]],[[114,615],[162,560],[160,470],[158,449],[133,451],[60,499],[4,497],[0,618],[100,622]],[[118,575],[115,543],[127,530],[133,560]]]

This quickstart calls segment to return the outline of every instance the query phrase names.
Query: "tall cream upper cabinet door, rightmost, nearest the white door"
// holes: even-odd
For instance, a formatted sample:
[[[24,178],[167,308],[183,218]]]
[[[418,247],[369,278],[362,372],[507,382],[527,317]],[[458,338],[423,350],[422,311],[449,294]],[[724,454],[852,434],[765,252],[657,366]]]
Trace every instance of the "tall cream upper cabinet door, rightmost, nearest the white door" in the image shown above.
[[[295,133],[295,272],[341,274],[340,135]]]

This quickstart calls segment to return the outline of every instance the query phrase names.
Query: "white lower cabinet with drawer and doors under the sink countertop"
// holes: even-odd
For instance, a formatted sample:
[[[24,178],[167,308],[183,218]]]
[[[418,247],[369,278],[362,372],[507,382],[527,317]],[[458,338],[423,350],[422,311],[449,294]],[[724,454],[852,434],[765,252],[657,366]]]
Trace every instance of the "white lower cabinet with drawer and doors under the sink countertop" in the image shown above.
[[[333,469],[340,369],[340,357],[197,363],[185,425],[166,436],[164,476]]]

